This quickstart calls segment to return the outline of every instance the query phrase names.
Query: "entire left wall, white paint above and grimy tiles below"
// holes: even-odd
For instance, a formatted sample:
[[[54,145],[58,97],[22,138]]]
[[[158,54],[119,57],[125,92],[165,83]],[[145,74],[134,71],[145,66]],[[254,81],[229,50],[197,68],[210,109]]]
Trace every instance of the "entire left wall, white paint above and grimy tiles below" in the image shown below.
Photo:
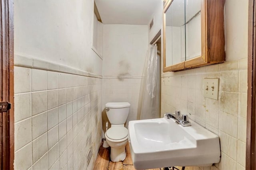
[[[92,169],[102,139],[93,1],[14,1],[15,169]]]

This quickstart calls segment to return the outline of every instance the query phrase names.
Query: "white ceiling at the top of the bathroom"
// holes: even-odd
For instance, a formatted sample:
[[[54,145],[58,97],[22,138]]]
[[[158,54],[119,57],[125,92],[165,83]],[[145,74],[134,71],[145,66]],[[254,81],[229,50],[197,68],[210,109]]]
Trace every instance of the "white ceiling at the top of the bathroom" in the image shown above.
[[[95,0],[104,24],[148,25],[162,0]]]

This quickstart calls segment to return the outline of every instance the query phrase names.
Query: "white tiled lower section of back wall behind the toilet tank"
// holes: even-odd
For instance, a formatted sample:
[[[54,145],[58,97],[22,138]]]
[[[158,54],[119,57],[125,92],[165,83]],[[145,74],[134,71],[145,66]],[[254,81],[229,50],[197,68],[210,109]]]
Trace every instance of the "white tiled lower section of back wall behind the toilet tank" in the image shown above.
[[[103,78],[102,111],[108,102],[129,102],[131,104],[126,126],[137,119],[138,98],[141,78]]]

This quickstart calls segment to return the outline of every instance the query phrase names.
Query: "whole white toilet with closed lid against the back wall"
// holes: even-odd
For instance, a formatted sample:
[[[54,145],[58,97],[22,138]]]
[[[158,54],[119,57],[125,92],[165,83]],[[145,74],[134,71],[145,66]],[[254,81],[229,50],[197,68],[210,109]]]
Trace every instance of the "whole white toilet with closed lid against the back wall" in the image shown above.
[[[124,123],[128,117],[130,103],[115,102],[105,105],[108,120],[111,127],[106,131],[105,138],[110,149],[110,159],[112,162],[123,161],[126,157],[125,145],[128,142],[128,129]]]

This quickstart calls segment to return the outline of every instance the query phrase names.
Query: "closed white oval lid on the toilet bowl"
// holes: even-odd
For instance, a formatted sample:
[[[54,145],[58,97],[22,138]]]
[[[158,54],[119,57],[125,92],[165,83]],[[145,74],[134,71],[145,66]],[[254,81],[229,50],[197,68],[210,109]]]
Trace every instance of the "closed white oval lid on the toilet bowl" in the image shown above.
[[[110,127],[106,135],[113,140],[124,139],[128,135],[128,129],[125,127]]]

